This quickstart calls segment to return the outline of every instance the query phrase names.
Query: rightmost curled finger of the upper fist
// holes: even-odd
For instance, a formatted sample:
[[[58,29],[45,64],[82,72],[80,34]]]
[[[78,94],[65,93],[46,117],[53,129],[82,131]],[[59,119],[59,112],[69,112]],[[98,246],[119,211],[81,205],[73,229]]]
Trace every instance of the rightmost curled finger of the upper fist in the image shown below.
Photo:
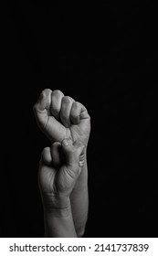
[[[80,119],[89,118],[87,109],[78,101],[74,101],[70,112],[70,120],[74,124],[79,124]]]

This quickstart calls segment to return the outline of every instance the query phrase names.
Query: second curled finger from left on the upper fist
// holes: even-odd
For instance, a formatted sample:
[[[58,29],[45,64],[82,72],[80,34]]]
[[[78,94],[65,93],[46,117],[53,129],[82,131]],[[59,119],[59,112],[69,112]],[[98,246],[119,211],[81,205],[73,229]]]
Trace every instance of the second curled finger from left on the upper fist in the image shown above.
[[[55,116],[57,119],[59,119],[59,112],[61,109],[61,101],[64,97],[64,94],[62,91],[55,90],[52,91],[51,94],[51,113],[53,116]]]

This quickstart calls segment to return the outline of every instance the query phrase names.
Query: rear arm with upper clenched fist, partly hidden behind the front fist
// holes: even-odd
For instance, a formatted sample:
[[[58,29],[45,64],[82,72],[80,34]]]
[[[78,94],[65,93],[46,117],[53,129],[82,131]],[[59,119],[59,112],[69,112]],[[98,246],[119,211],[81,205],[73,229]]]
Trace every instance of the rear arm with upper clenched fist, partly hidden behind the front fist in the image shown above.
[[[90,137],[90,115],[81,103],[65,96],[61,91],[49,89],[42,91],[34,112],[39,128],[51,142],[61,144],[64,139],[69,139],[72,144],[79,142],[85,147],[84,165],[69,195],[74,227],[77,236],[81,237],[89,208],[86,150]]]

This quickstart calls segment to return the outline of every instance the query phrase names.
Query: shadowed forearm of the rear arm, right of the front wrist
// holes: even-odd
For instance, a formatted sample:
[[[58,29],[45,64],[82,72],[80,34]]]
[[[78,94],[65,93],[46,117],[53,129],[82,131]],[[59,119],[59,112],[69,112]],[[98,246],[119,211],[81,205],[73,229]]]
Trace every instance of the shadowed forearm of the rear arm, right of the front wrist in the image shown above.
[[[70,195],[70,203],[75,229],[78,237],[81,237],[84,234],[89,211],[87,157],[85,157],[85,163],[82,167],[79,179]]]

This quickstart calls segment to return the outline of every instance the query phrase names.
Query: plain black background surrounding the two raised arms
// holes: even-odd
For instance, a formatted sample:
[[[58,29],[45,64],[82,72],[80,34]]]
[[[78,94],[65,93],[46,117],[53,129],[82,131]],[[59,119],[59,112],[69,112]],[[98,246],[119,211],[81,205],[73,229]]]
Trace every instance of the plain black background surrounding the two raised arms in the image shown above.
[[[1,236],[44,233],[37,168],[49,142],[32,107],[40,91],[50,88],[82,102],[91,116],[85,237],[155,237],[153,1],[52,3],[8,1],[4,10]]]

